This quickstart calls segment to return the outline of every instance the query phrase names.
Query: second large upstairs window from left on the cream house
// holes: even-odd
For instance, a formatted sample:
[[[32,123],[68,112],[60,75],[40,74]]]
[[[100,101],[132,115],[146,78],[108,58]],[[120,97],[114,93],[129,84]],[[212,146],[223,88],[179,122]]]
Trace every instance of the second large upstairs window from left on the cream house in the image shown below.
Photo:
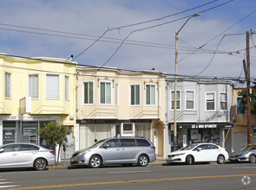
[[[111,82],[100,82],[100,87],[101,87],[101,97],[100,97],[100,102],[101,104],[112,104],[111,102]]]

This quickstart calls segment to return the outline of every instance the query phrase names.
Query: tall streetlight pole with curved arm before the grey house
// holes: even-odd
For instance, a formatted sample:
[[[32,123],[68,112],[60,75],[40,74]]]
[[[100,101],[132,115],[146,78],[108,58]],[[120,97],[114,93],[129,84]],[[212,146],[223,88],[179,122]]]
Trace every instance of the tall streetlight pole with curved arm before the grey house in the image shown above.
[[[190,16],[181,28],[175,32],[175,73],[174,73],[174,150],[177,150],[177,66],[178,66],[178,35],[187,22],[200,14]],[[180,95],[181,96],[181,95]]]

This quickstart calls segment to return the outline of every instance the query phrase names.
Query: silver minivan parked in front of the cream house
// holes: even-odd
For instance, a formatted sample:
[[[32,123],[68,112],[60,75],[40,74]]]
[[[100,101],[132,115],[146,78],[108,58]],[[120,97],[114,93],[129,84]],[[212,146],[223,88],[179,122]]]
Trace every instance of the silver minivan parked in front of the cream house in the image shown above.
[[[138,164],[141,167],[155,161],[155,147],[145,137],[113,137],[96,142],[88,149],[76,151],[71,166],[99,168],[104,164]]]

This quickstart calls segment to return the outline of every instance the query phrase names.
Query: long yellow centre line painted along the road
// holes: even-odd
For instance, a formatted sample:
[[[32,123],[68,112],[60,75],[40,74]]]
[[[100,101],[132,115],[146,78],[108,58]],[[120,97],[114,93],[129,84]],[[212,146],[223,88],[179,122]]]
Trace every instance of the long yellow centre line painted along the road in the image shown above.
[[[95,186],[95,185],[152,182],[152,181],[162,181],[162,180],[194,180],[194,179],[243,177],[245,175],[246,176],[256,176],[256,174],[228,174],[228,175],[213,175],[213,176],[162,178],[162,179],[150,179],[150,180],[126,180],[126,181],[105,181],[105,182],[91,182],[91,183],[75,183],[75,184],[62,184],[62,185],[39,186],[39,187],[15,187],[15,188],[11,188],[11,189],[13,189],[13,190],[23,190],[23,189],[59,188],[59,187],[82,187],[82,186]]]

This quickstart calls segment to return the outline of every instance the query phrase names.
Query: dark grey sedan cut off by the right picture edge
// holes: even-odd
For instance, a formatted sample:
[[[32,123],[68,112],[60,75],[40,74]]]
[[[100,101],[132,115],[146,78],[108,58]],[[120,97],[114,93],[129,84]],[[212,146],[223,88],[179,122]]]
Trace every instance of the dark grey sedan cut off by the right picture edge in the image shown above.
[[[248,145],[238,152],[229,155],[229,161],[249,161],[256,162],[256,145]]]

